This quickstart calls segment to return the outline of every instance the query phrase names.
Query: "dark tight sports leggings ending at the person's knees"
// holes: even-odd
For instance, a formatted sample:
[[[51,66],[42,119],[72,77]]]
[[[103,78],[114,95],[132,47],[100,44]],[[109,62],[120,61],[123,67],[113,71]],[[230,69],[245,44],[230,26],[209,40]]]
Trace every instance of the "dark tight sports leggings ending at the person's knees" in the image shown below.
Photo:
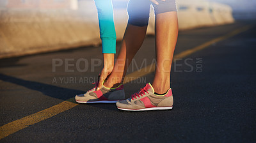
[[[154,7],[155,15],[159,13],[177,11],[175,0],[159,1],[158,5],[152,4]],[[127,4],[127,12],[129,15],[128,23],[134,26],[147,26],[150,14],[149,0],[130,0]]]

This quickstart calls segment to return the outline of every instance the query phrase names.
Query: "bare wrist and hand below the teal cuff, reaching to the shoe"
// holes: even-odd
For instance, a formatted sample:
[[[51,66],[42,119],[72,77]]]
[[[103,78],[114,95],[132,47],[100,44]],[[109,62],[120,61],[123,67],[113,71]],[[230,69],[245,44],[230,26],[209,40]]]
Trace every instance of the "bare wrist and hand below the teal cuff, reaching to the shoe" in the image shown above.
[[[113,68],[114,68],[115,54],[103,54],[103,57],[104,57],[104,68],[100,72],[99,83],[96,91],[99,91],[104,80],[107,79],[107,77],[110,75],[110,73],[113,71]]]

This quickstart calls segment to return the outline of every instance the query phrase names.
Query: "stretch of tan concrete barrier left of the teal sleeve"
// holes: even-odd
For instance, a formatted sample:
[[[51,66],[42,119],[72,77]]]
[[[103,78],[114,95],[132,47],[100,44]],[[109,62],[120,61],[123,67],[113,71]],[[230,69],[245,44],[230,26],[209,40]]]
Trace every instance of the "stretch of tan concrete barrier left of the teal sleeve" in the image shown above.
[[[77,19],[73,11],[4,11],[0,57],[49,52],[100,42],[97,17]],[[32,13],[32,14],[31,14]],[[29,15],[29,17],[28,17]]]

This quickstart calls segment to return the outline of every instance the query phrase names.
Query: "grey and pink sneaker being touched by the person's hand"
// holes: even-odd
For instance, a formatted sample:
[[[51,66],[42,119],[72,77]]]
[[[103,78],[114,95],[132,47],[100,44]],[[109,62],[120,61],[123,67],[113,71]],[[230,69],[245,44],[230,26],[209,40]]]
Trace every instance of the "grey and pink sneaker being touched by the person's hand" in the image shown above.
[[[84,94],[76,95],[77,103],[116,103],[118,100],[125,100],[124,85],[121,84],[116,88],[108,88],[103,86],[96,91],[97,84],[93,89]]]

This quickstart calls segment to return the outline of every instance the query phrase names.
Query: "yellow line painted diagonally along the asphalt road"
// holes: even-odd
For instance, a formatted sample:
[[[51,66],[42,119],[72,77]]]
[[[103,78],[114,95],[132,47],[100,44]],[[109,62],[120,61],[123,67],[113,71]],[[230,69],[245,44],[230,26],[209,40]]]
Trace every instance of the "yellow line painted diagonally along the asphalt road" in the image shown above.
[[[219,38],[215,38],[211,41],[207,41],[206,43],[203,43],[202,45],[199,45],[193,49],[189,49],[184,52],[181,52],[180,54],[177,54],[173,57],[173,61],[175,61],[178,58],[183,58],[183,57],[189,56],[190,54],[193,54],[198,50],[202,50],[202,49],[209,47],[213,43],[217,43],[219,41],[226,40],[227,38],[230,38],[232,36],[235,36],[236,34],[247,31],[248,29],[250,29],[252,27],[253,26],[241,27],[239,29],[236,29],[235,31],[232,31],[231,33],[225,34],[224,36],[220,36]],[[125,80],[124,83],[131,82],[132,80],[136,80],[140,77],[143,77],[143,76],[147,75],[148,73],[154,72],[155,66],[156,66],[155,64],[150,64],[149,66],[142,68],[140,71],[130,73],[129,75],[127,75],[125,77],[127,80]],[[0,139],[3,139],[4,137],[7,137],[8,135],[11,135],[12,133],[18,132],[19,130],[22,130],[23,128],[31,126],[35,123],[44,121],[45,119],[48,119],[52,116],[56,116],[57,114],[60,114],[61,112],[72,109],[73,107],[76,107],[77,105],[79,105],[79,104],[77,104],[74,101],[74,98],[70,98],[70,99],[68,99],[64,102],[61,102],[58,105],[54,105],[48,109],[42,110],[40,112],[36,112],[35,114],[31,114],[26,117],[22,117],[21,119],[12,121],[11,123],[4,124],[3,126],[0,126]]]

